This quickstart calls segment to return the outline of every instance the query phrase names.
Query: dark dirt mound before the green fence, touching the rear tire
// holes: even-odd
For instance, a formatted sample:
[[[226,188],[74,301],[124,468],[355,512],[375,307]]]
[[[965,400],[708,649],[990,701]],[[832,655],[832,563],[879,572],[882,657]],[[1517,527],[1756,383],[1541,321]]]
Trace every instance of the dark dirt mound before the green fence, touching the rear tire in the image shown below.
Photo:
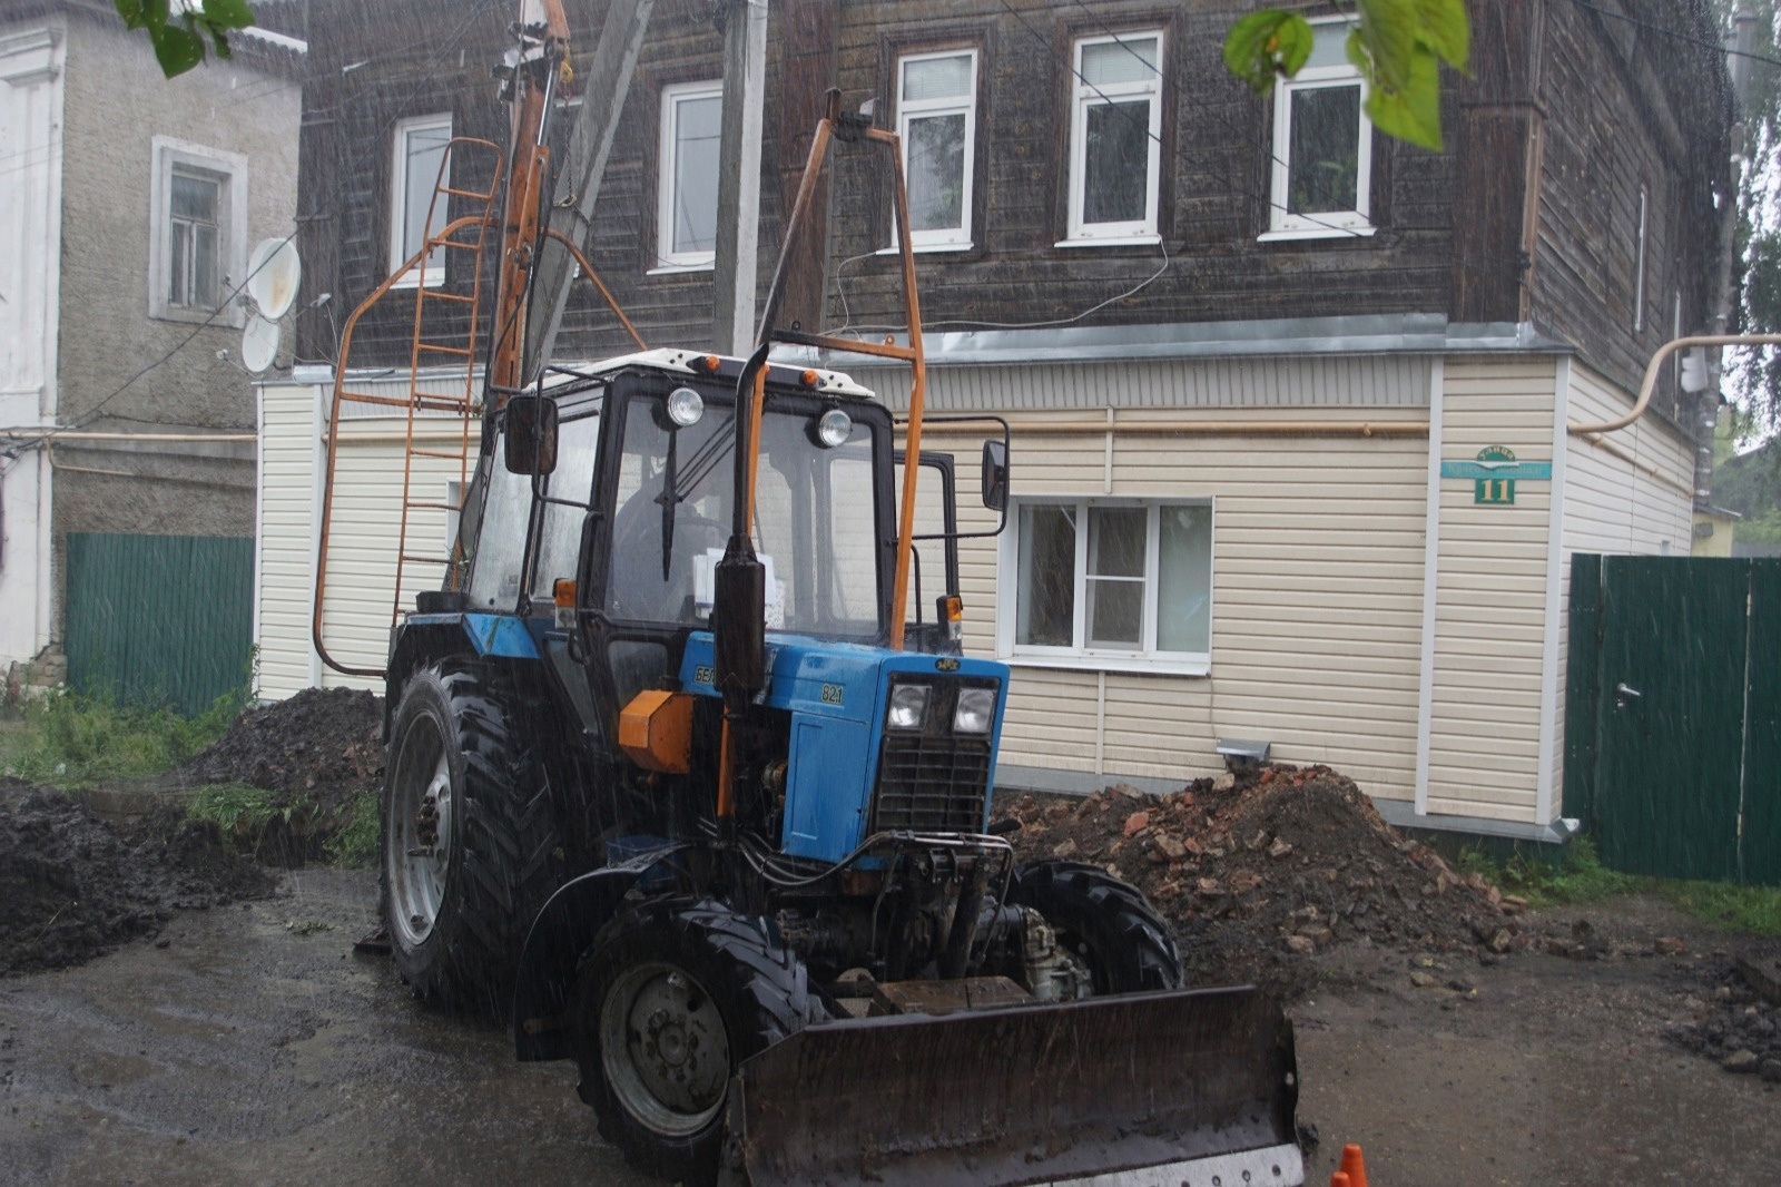
[[[331,807],[383,779],[383,699],[351,688],[305,688],[248,709],[178,777],[244,782]]]

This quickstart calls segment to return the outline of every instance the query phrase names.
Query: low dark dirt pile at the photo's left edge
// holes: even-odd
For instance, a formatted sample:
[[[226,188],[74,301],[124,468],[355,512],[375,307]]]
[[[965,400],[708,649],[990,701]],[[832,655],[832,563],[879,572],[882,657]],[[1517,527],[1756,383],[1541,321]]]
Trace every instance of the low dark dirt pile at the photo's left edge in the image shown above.
[[[173,911],[267,895],[272,875],[214,823],[159,809],[114,829],[59,791],[0,797],[0,975],[80,964]]]

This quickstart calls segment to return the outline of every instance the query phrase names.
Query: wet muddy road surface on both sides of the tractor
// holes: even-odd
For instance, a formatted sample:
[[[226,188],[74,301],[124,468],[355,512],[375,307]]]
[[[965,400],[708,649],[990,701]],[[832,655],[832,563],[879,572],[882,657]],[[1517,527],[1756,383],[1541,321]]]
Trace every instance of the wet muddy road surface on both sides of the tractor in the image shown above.
[[[272,898],[175,916],[166,948],[0,980],[0,1183],[641,1182],[566,1066],[515,1064],[504,1034],[351,954],[374,900],[370,872],[296,870]],[[1382,1187],[1774,1183],[1777,1089],[1663,1036],[1710,1011],[1726,939],[1640,898],[1528,927],[1576,918],[1606,959],[1313,957],[1293,1007],[1323,1139],[1307,1182],[1361,1141]],[[1683,952],[1639,955],[1658,936]]]

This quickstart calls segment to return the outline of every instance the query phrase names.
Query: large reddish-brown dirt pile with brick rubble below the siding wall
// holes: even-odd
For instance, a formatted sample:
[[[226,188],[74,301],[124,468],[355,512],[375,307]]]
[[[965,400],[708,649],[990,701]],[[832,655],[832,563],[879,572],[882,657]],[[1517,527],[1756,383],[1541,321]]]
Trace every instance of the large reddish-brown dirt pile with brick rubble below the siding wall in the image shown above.
[[[1129,786],[1083,800],[1021,795],[1022,859],[1108,866],[1170,921],[1197,982],[1254,982],[1288,996],[1311,957],[1370,941],[1400,950],[1526,946],[1525,904],[1459,875],[1380,820],[1352,779],[1327,766],[1270,765],[1200,779],[1170,795]]]

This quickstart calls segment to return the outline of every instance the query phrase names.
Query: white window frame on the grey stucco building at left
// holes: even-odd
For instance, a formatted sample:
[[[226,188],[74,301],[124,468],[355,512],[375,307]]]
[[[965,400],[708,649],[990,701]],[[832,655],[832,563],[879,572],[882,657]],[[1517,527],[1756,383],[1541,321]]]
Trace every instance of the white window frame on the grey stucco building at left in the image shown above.
[[[248,159],[157,135],[150,143],[148,198],[148,315],[160,321],[208,323],[240,328],[248,317],[235,301],[235,289],[248,273]],[[173,285],[173,175],[199,176],[217,184],[217,301],[216,308],[175,305]]]

